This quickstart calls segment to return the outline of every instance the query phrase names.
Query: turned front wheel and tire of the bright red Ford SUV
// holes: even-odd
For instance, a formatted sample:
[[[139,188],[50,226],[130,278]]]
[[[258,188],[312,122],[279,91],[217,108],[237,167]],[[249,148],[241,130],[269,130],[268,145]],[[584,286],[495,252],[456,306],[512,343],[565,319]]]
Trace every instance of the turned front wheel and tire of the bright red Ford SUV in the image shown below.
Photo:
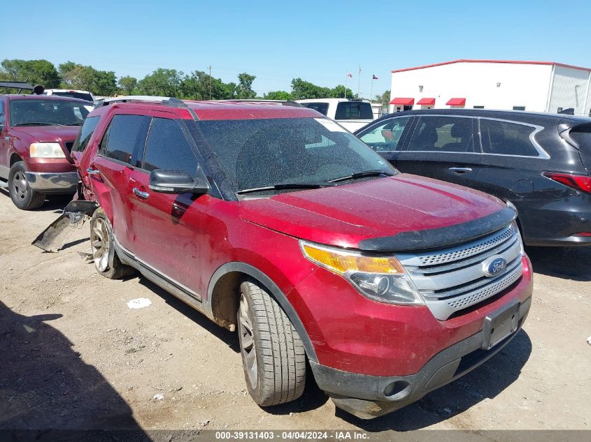
[[[252,399],[259,406],[271,406],[300,397],[306,385],[304,344],[285,311],[257,281],[241,284],[236,318]]]

